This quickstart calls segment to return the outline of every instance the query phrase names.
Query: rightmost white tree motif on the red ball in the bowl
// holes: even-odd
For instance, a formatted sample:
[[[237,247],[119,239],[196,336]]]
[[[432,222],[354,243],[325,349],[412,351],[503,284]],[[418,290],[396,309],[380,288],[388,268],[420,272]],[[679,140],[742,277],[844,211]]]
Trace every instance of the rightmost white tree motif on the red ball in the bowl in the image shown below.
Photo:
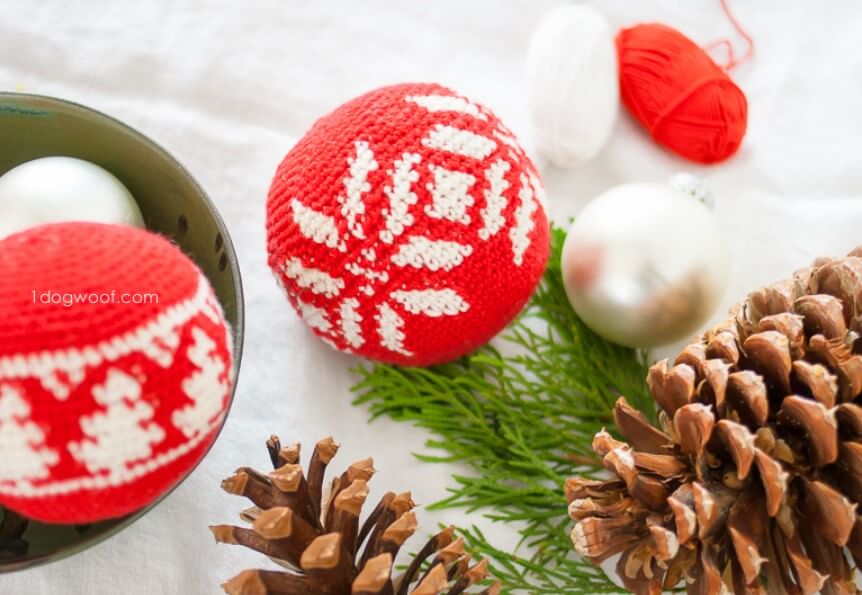
[[[209,432],[221,419],[229,387],[226,364],[215,352],[216,343],[200,327],[192,327],[189,361],[195,370],[183,380],[183,392],[192,404],[174,411],[171,421],[187,438]]]

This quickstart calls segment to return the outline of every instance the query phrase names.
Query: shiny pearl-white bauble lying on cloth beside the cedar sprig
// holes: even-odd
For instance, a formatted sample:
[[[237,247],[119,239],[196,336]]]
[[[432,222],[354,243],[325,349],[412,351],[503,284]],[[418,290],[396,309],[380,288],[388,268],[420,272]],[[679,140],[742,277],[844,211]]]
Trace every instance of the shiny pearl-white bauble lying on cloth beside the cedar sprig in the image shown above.
[[[599,335],[628,347],[696,332],[718,306],[730,254],[710,210],[660,184],[633,183],[594,198],[562,254],[566,295]]]

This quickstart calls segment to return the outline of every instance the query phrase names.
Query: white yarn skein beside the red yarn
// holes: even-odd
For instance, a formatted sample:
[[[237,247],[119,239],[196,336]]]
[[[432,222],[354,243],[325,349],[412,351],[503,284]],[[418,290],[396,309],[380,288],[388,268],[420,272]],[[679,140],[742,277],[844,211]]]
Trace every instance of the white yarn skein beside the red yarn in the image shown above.
[[[613,34],[595,8],[548,13],[527,52],[527,89],[538,151],[558,167],[594,157],[620,105]]]

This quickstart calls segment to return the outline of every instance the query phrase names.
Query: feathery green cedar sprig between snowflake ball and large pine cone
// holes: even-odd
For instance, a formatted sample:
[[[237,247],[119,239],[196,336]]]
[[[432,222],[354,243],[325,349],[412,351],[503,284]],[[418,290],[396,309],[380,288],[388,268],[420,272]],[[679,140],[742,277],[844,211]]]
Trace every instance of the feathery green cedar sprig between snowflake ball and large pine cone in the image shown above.
[[[600,472],[593,435],[613,430],[619,395],[654,418],[645,381],[646,354],[590,331],[563,289],[560,255],[565,232],[551,230],[551,256],[542,283],[499,349],[432,368],[360,367],[358,405],[372,419],[389,416],[430,430],[429,462],[457,462],[451,495],[434,508],[483,510],[517,523],[526,556],[494,549],[477,529],[465,537],[495,562],[508,590],[531,593],[618,592],[600,570],[578,560],[568,538],[563,484],[571,475]],[[520,548],[519,548],[520,549]]]

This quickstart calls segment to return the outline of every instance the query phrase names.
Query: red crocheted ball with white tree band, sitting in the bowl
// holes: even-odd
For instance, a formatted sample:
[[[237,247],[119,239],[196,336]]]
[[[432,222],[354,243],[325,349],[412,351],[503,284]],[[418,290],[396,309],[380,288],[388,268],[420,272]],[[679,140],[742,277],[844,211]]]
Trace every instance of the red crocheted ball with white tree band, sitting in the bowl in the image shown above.
[[[168,240],[61,223],[0,241],[0,504],[45,522],[119,517],[215,438],[230,333]]]

